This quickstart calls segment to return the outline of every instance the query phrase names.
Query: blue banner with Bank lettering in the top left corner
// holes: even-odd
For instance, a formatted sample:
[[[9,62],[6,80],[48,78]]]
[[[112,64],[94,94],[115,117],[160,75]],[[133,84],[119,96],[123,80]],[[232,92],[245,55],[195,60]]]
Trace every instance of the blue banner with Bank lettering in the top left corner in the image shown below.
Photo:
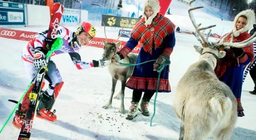
[[[25,25],[24,5],[1,1],[0,25]]]

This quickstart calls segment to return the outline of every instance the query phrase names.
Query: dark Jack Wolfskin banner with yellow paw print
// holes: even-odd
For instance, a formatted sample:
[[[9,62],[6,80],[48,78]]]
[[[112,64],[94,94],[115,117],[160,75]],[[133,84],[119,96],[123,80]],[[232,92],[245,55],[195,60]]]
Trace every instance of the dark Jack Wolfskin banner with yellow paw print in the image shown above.
[[[141,20],[140,18],[129,18],[129,17],[118,17],[113,15],[102,15],[102,22],[105,26],[109,27],[124,27],[124,28],[133,28],[137,22]]]

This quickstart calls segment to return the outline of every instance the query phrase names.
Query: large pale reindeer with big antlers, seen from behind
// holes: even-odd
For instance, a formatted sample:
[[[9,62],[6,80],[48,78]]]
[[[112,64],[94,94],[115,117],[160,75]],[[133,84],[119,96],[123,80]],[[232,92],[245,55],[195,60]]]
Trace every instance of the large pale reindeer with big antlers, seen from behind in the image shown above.
[[[219,58],[225,56],[219,48],[242,48],[256,40],[256,33],[247,40],[238,43],[217,43],[208,41],[201,30],[215,25],[199,28],[192,10],[203,7],[191,7],[195,0],[189,2],[188,13],[195,27],[193,32],[202,47],[194,46],[201,54],[198,62],[192,64],[180,79],[174,98],[173,108],[181,120],[179,140],[202,140],[212,136],[217,140],[229,140],[237,119],[237,101],[231,89],[216,77],[214,68]]]

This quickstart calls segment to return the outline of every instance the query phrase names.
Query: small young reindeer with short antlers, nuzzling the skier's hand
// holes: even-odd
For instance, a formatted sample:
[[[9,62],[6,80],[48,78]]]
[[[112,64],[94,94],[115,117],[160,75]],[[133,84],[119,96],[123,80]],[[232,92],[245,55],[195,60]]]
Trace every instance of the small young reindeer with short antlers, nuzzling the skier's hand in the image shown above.
[[[104,31],[105,31],[105,26],[104,26]],[[121,35],[120,35],[121,36]],[[120,37],[119,36],[119,37]],[[107,39],[106,33],[105,37]],[[119,39],[117,38],[117,40]],[[117,53],[117,47],[120,46],[121,42],[107,42],[107,40],[102,41],[104,43],[104,52],[102,54],[103,60],[111,61],[112,57]],[[136,63],[137,60],[137,55],[133,53],[129,53],[124,59],[120,60],[121,63]],[[111,62],[108,65],[108,70],[109,73],[112,76],[112,88],[111,88],[111,93],[110,93],[110,98],[109,101],[107,102],[106,105],[103,106],[103,108],[108,109],[112,105],[112,98],[115,92],[115,86],[117,84],[117,80],[121,81],[121,90],[119,94],[117,95],[117,98],[121,98],[121,105],[119,107],[119,112],[120,113],[125,113],[124,111],[124,89],[125,89],[125,83],[128,78],[132,76],[134,66],[124,66],[120,65],[115,62]]]

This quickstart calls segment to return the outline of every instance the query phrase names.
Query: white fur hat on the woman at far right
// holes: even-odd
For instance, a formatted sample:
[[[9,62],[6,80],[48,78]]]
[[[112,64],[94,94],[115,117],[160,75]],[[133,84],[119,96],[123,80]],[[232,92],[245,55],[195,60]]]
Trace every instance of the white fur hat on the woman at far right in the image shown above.
[[[237,31],[236,30],[236,22],[241,15],[244,15],[247,17],[247,23],[243,28],[241,28],[240,30]],[[255,23],[255,13],[253,10],[248,9],[248,10],[244,10],[244,11],[241,11],[240,13],[238,13],[234,19],[234,28],[233,28],[234,37],[239,36],[240,33],[242,33],[242,32],[247,32],[251,27],[253,27],[254,23]]]

